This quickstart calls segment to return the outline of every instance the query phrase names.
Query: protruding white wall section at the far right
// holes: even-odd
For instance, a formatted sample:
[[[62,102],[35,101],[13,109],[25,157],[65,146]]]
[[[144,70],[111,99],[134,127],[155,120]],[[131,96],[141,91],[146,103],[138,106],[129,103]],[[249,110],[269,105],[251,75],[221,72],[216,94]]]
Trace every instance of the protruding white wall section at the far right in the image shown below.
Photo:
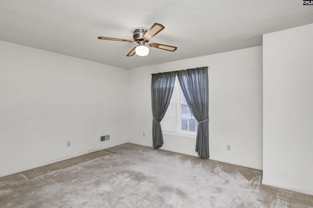
[[[313,194],[313,24],[263,36],[263,183]]]

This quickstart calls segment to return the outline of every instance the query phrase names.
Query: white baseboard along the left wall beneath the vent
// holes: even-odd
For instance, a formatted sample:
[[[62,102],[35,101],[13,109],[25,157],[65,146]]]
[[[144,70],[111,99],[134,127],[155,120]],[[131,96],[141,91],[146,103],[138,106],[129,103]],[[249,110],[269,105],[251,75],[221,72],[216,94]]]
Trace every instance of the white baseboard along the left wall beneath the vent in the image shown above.
[[[112,146],[118,146],[118,145],[122,145],[122,144],[125,144],[125,143],[128,143],[128,142],[123,142],[121,144],[114,144]],[[60,161],[63,161],[63,160],[67,160],[67,159],[70,159],[70,158],[73,158],[73,157],[81,156],[81,155],[88,154],[88,153],[91,153],[91,152],[96,152],[96,151],[99,151],[99,150],[102,150],[102,149],[107,149],[107,148],[110,148],[112,146],[100,147],[100,148],[88,150],[88,151],[85,151],[85,152],[80,152],[80,153],[77,153],[77,154],[69,155],[67,157],[62,157],[62,158],[58,158],[58,159],[55,159],[55,160],[50,160],[50,161],[47,161],[47,162],[44,162],[44,163],[39,163],[39,164],[36,164],[36,165],[33,165],[33,166],[29,166],[29,167],[26,167],[26,168],[15,170],[15,171],[12,171],[12,172],[2,173],[2,174],[0,174],[0,177],[11,175],[11,174],[15,174],[15,173],[19,173],[19,172],[23,172],[25,170],[30,170],[30,169],[33,169],[33,168],[36,168],[36,167],[40,167],[40,166],[46,166],[46,165],[49,165],[49,164],[52,164],[52,163],[56,163],[56,162],[60,162]]]

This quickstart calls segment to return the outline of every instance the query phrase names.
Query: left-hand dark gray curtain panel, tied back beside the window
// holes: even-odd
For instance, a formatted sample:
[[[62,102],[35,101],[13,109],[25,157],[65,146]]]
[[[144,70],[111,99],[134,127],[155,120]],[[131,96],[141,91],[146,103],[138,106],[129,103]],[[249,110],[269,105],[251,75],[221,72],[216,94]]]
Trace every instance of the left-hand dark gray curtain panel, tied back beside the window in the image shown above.
[[[176,72],[152,74],[151,97],[152,97],[152,140],[153,148],[163,145],[163,135],[160,122],[170,104],[173,94]]]

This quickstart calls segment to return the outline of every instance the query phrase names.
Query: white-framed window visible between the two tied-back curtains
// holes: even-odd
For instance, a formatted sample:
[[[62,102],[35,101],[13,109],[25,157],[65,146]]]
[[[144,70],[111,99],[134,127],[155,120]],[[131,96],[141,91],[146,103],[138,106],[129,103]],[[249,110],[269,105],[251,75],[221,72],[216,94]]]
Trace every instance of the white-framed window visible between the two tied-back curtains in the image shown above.
[[[162,130],[173,133],[196,134],[198,125],[199,123],[192,114],[176,78],[171,102],[161,121]]]

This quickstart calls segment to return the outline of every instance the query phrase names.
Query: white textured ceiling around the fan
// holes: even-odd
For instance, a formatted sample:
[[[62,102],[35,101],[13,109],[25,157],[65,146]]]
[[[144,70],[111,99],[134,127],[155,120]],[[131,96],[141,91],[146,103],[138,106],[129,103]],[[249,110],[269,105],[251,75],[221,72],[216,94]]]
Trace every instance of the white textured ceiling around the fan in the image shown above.
[[[165,29],[148,57],[126,57],[136,28]],[[262,34],[313,23],[302,0],[0,0],[0,41],[134,68],[262,45]]]

